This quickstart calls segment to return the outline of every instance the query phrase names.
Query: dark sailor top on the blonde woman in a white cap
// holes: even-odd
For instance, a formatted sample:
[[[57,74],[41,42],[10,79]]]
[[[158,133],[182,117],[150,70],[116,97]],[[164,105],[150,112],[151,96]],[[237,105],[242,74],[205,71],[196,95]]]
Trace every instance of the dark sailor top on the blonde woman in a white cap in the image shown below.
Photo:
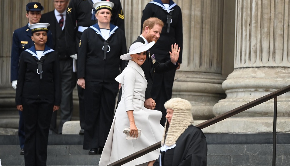
[[[115,78],[123,71],[124,61],[120,55],[125,54],[126,39],[122,29],[110,24],[112,34],[106,41],[108,49],[104,60],[102,38],[98,24],[92,25],[82,33],[78,49],[78,78],[86,81],[116,83]]]

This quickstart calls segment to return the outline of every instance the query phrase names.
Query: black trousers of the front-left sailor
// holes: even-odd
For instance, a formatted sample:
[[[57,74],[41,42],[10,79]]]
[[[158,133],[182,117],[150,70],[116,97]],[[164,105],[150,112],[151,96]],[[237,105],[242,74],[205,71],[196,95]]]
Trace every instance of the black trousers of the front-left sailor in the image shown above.
[[[25,125],[25,166],[45,166],[54,99],[22,98]]]

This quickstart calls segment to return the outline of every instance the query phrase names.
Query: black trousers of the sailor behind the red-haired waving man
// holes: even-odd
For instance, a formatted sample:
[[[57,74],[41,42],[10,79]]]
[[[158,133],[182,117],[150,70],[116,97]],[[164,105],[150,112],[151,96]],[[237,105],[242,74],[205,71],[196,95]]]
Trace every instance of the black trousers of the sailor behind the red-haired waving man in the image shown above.
[[[163,57],[164,56],[165,55],[163,55]],[[157,59],[157,57],[160,58],[162,57],[162,55],[155,55],[155,57]],[[160,59],[158,61],[165,63],[166,61],[168,61],[168,59]],[[163,73],[154,73],[151,96],[156,103],[155,110],[159,110],[162,112],[162,118],[160,120],[160,124],[162,126],[164,126],[166,122],[166,109],[164,107],[164,103],[172,97],[172,86],[174,82],[175,71],[176,70],[173,69]]]

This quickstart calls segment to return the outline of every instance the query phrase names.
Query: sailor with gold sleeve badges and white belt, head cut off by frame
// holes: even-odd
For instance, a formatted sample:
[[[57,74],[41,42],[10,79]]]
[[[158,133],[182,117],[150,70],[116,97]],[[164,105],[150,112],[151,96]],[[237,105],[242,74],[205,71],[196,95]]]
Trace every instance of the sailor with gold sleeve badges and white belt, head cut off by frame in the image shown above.
[[[96,23],[95,9],[93,4],[101,0],[70,0],[66,11],[65,42],[68,54],[77,59],[78,46],[82,32],[89,26]],[[107,0],[108,1],[108,0]],[[118,26],[125,31],[124,13],[120,0],[110,0],[114,3],[112,9],[111,24]],[[84,94],[82,88],[78,87],[79,112],[80,112],[80,134],[84,133]]]

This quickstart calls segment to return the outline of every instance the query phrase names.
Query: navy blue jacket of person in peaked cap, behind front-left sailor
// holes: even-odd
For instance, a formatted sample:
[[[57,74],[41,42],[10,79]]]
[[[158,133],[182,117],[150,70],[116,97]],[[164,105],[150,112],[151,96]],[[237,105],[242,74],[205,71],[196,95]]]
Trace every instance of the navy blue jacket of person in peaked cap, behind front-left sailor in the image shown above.
[[[12,38],[12,49],[11,49],[11,82],[17,80],[18,73],[18,63],[19,56],[22,51],[31,48],[34,46],[34,42],[31,40],[31,29],[28,28],[28,24],[22,28],[18,28],[13,32]],[[51,32],[47,33],[47,42],[48,47],[52,48],[53,40]]]

